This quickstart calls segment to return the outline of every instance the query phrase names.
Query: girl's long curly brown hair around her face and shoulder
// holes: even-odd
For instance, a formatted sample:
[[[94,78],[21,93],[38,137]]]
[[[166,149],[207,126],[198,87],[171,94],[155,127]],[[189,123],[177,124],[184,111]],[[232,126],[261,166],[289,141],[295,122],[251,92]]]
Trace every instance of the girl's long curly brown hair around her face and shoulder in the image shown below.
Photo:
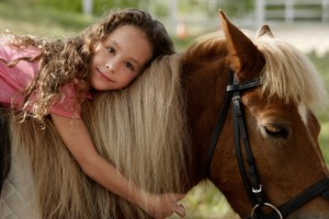
[[[152,19],[148,12],[139,9],[113,11],[103,20],[87,27],[80,35],[66,39],[16,36],[16,46],[35,46],[42,51],[34,59],[29,59],[29,57],[20,59],[39,60],[39,71],[24,92],[22,107],[24,115],[26,115],[25,107],[31,104],[30,97],[37,90],[36,97],[33,95],[33,111],[31,113],[33,117],[43,120],[49,106],[60,97],[60,91],[67,83],[72,83],[76,87],[77,104],[81,104],[86,92],[90,89],[88,79],[94,46],[123,25],[133,25],[146,33],[152,47],[152,59],[174,53],[173,43],[163,24]]]

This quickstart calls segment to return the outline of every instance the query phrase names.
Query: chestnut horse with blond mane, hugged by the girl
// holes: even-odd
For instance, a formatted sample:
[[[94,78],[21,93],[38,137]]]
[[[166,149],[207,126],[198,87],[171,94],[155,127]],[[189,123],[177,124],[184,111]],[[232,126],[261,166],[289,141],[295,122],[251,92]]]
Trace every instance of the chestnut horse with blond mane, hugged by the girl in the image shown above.
[[[209,180],[241,218],[329,218],[314,114],[328,100],[319,74],[269,26],[245,32],[219,15],[222,32],[86,103],[82,119],[99,152],[150,193],[188,193]],[[7,151],[12,165],[26,161],[15,170],[31,173],[25,193],[35,201],[24,209],[33,218],[149,218],[81,172],[50,118],[41,129],[8,117]],[[2,197],[19,182],[13,172]]]

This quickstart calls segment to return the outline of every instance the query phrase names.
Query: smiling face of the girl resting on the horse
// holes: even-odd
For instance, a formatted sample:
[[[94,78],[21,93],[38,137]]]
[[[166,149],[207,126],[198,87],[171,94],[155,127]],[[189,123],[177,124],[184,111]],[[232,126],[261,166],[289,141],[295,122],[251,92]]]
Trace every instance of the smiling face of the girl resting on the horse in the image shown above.
[[[127,87],[151,56],[151,45],[143,31],[133,25],[117,27],[94,48],[91,87],[99,91]]]

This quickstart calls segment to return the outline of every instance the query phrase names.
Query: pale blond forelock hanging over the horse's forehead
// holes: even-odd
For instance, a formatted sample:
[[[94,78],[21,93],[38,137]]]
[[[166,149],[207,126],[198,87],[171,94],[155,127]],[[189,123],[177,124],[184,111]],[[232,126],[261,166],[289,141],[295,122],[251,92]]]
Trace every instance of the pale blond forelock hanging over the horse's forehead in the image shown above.
[[[294,46],[274,37],[253,39],[265,58],[262,91],[269,97],[314,107],[328,100],[326,88],[308,57]]]

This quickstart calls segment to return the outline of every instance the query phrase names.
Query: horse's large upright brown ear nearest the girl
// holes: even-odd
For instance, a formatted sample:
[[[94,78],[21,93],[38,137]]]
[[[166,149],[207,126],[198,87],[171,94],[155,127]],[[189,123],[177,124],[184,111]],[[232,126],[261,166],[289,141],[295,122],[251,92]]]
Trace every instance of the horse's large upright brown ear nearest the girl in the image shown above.
[[[228,21],[222,10],[219,10],[219,18],[231,70],[237,73],[240,81],[254,78],[251,73],[259,73],[264,65],[262,54],[237,26]]]

